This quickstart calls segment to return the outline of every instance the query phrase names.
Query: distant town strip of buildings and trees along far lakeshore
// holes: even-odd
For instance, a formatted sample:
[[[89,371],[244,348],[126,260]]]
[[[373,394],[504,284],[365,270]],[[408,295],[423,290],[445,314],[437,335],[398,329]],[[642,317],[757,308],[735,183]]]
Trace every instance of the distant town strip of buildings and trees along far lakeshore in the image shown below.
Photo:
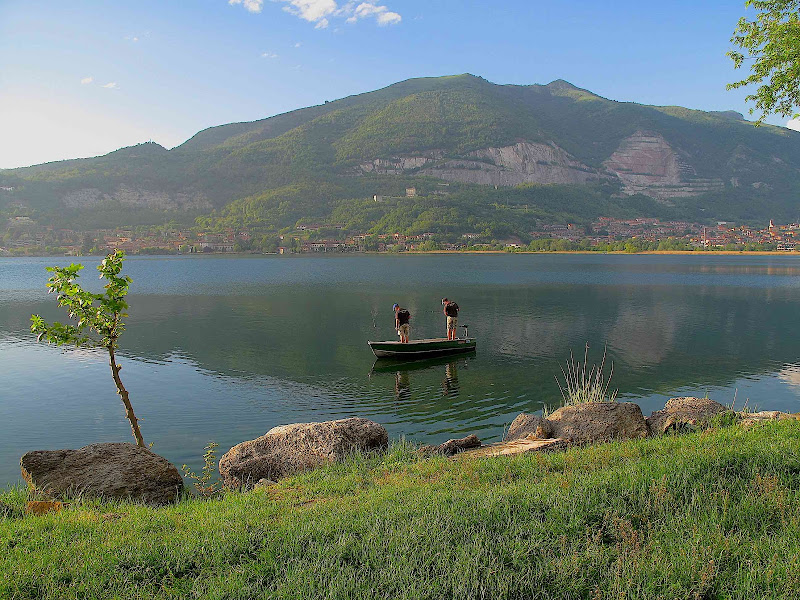
[[[8,220],[0,238],[0,255],[102,254],[119,248],[128,254],[194,253],[344,253],[425,251],[646,251],[763,250],[795,252],[800,223],[758,229],[719,222],[702,225],[654,218],[601,217],[588,225],[542,224],[527,240],[489,240],[480,233],[406,235],[344,232],[334,223],[298,224],[281,233],[248,229],[202,231],[164,225],[149,228],[74,231],[40,226],[26,216]]]

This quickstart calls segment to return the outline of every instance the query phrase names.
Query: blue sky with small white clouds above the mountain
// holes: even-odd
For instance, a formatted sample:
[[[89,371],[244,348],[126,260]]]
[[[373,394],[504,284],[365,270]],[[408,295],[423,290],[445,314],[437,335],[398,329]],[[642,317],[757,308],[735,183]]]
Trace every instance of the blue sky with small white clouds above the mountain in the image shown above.
[[[725,89],[747,72],[725,53],[752,14],[744,0],[0,0],[0,168],[172,148],[458,73],[748,116],[747,92]]]

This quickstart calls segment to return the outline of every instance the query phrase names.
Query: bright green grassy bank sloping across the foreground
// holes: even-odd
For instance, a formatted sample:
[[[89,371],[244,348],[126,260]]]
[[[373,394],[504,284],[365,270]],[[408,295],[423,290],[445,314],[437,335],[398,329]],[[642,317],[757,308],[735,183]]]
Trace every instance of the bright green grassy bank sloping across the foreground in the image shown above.
[[[798,598],[800,424],[563,454],[406,445],[150,509],[0,496],[0,598]]]

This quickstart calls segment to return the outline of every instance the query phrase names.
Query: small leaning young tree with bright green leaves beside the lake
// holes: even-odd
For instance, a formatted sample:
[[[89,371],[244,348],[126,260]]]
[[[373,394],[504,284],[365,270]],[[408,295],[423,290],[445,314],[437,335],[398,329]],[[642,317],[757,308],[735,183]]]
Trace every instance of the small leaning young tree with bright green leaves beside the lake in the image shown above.
[[[75,347],[104,348],[108,352],[111,376],[125,405],[125,416],[130,421],[133,437],[137,445],[144,446],[142,432],[139,431],[139,423],[128,398],[128,390],[119,377],[122,367],[117,364],[115,357],[117,340],[125,331],[125,324],[122,322],[128,316],[125,296],[132,281],[127,275],[120,275],[124,260],[125,253],[115,250],[97,267],[100,279],[108,280],[102,294],[87,292],[76,283],[83,265],[48,267],[47,270],[53,273],[47,284],[48,293],[58,294],[58,305],[65,307],[69,311],[69,317],[77,323],[64,325],[56,321],[49,324],[39,315],[32,315],[31,332],[38,334],[37,341],[44,339],[58,346],[73,344]]]

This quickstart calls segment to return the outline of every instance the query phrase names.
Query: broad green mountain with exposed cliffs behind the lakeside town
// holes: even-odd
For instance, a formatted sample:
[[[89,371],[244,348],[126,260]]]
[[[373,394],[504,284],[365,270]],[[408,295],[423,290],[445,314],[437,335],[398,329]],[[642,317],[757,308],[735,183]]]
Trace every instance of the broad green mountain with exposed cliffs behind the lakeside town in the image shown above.
[[[424,198],[387,204],[373,195]],[[506,229],[607,214],[797,219],[800,134],[557,80],[422,78],[96,158],[0,171],[0,210],[75,227]],[[9,191],[8,188],[13,188]],[[524,223],[501,207],[525,206]],[[375,229],[377,228],[377,229]],[[437,229],[438,228],[438,229]]]

